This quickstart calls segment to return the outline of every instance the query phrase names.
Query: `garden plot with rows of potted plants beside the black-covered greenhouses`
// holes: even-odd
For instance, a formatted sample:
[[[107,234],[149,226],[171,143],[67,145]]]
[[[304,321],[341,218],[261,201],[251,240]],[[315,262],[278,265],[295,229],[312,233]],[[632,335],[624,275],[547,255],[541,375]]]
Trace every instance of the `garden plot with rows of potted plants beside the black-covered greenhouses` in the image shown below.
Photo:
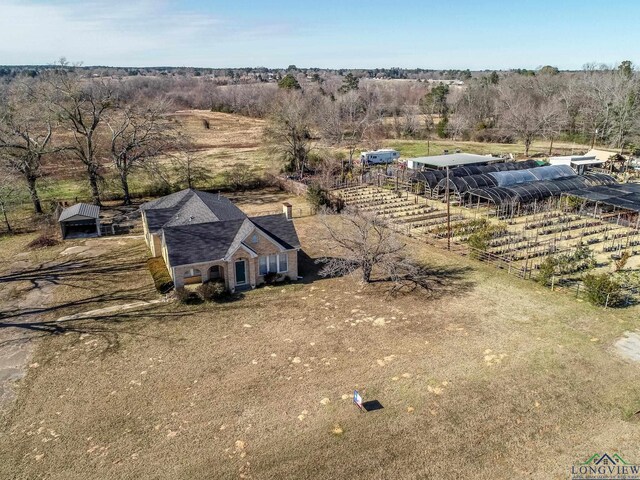
[[[389,219],[401,233],[411,236],[446,238],[447,208],[441,200],[425,199],[407,192],[357,186],[337,190],[346,205],[376,212]],[[490,216],[482,207],[450,206],[451,237],[454,242],[468,244],[483,258],[498,261],[500,268],[537,271],[550,255],[568,260],[562,276],[572,277],[587,268],[611,269],[622,252],[635,265],[640,256],[640,234],[637,230],[609,223],[599,218],[565,212],[548,206],[540,212],[523,212],[506,221]],[[480,244],[477,235],[489,229]],[[473,240],[473,239],[472,239]]]

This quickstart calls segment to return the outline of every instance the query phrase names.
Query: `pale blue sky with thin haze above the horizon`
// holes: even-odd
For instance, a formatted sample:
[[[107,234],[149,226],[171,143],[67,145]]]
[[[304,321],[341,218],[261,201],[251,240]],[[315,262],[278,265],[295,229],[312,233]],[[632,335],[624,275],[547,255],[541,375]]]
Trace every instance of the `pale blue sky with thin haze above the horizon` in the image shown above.
[[[509,69],[640,63],[638,0],[0,0],[0,64]]]

